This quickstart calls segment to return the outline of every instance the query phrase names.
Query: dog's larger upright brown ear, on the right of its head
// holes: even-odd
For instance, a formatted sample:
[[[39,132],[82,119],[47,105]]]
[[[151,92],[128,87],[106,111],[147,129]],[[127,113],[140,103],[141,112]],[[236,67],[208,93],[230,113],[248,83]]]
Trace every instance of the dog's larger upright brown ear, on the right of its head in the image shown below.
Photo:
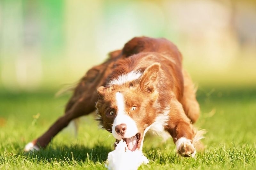
[[[140,88],[147,92],[154,92],[157,84],[157,75],[160,69],[160,64],[152,64],[144,71],[140,78]]]

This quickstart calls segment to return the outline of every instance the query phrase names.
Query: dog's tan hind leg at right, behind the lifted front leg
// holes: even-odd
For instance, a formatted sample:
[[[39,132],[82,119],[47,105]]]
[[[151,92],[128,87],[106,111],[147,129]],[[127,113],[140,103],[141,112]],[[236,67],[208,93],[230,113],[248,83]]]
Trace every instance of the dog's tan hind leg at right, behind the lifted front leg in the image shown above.
[[[196,100],[196,88],[186,70],[183,69],[182,73],[184,77],[184,92],[181,103],[188,118],[192,123],[195,123],[200,114],[200,107]]]

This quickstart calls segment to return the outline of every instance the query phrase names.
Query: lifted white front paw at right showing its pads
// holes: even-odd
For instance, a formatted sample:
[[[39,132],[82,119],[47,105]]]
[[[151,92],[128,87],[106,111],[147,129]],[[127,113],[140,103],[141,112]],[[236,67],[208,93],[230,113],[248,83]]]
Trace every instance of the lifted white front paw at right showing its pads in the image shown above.
[[[191,141],[187,138],[179,138],[176,141],[177,152],[184,157],[192,157],[195,158],[196,149],[192,145]]]

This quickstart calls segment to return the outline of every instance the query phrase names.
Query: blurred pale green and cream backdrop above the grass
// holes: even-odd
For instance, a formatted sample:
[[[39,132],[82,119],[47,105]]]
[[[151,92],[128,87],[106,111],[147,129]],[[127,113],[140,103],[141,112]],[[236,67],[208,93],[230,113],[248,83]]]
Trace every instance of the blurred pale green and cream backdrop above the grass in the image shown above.
[[[135,36],[175,43],[199,87],[256,85],[254,0],[1,0],[0,89],[58,90]]]

